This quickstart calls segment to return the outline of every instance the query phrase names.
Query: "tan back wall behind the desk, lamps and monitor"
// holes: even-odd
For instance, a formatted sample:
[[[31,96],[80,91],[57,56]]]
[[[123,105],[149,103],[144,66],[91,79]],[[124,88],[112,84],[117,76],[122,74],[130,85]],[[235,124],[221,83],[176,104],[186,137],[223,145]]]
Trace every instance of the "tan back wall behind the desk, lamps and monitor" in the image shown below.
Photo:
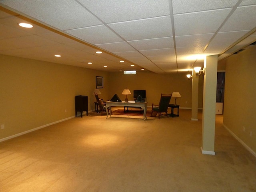
[[[192,92],[192,80],[186,78],[186,73],[179,74],[154,74],[152,72],[140,72],[137,74],[124,74],[124,72],[112,72],[110,73],[108,99],[111,99],[114,94],[118,94],[121,100],[124,100],[125,96],[122,95],[124,89],[129,89],[132,93],[128,95],[128,100],[133,100],[133,90],[146,90],[146,97],[148,106],[152,103],[158,104],[162,94],[171,94],[172,92],[179,92],[181,98],[177,98],[177,104],[181,108],[191,108],[191,92]],[[202,108],[202,81],[200,80],[200,101],[199,108]],[[174,103],[174,98],[170,103]]]

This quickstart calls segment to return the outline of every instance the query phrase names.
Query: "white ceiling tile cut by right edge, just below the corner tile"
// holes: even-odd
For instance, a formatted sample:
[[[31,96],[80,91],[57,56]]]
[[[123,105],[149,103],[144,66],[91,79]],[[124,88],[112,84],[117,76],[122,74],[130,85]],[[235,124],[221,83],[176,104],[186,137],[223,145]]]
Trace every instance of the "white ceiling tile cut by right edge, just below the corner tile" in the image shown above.
[[[256,6],[238,7],[220,32],[252,30],[256,26]]]

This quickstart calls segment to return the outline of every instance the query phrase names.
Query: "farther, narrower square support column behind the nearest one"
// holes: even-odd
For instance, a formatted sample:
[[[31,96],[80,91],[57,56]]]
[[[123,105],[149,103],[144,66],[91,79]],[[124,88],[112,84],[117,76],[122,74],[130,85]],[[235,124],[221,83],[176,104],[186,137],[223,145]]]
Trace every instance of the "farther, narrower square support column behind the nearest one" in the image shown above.
[[[192,110],[191,110],[191,120],[198,121],[198,82],[199,77],[196,76],[193,70],[192,78]]]

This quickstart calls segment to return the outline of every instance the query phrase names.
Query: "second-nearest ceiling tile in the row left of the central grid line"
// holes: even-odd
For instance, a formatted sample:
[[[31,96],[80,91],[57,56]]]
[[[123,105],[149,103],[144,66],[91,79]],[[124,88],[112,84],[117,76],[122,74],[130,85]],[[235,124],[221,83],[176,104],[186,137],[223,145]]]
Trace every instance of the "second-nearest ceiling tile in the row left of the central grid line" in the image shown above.
[[[109,24],[127,41],[172,36],[170,16]]]

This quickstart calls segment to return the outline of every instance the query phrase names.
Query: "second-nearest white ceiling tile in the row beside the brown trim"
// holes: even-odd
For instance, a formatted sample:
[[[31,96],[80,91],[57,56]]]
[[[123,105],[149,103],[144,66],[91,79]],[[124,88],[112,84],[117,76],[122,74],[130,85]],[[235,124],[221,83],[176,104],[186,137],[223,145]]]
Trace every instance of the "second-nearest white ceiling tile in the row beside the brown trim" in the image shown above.
[[[76,30],[66,30],[66,32],[86,42],[89,42],[90,44],[104,44],[123,41],[119,36],[104,25]]]

